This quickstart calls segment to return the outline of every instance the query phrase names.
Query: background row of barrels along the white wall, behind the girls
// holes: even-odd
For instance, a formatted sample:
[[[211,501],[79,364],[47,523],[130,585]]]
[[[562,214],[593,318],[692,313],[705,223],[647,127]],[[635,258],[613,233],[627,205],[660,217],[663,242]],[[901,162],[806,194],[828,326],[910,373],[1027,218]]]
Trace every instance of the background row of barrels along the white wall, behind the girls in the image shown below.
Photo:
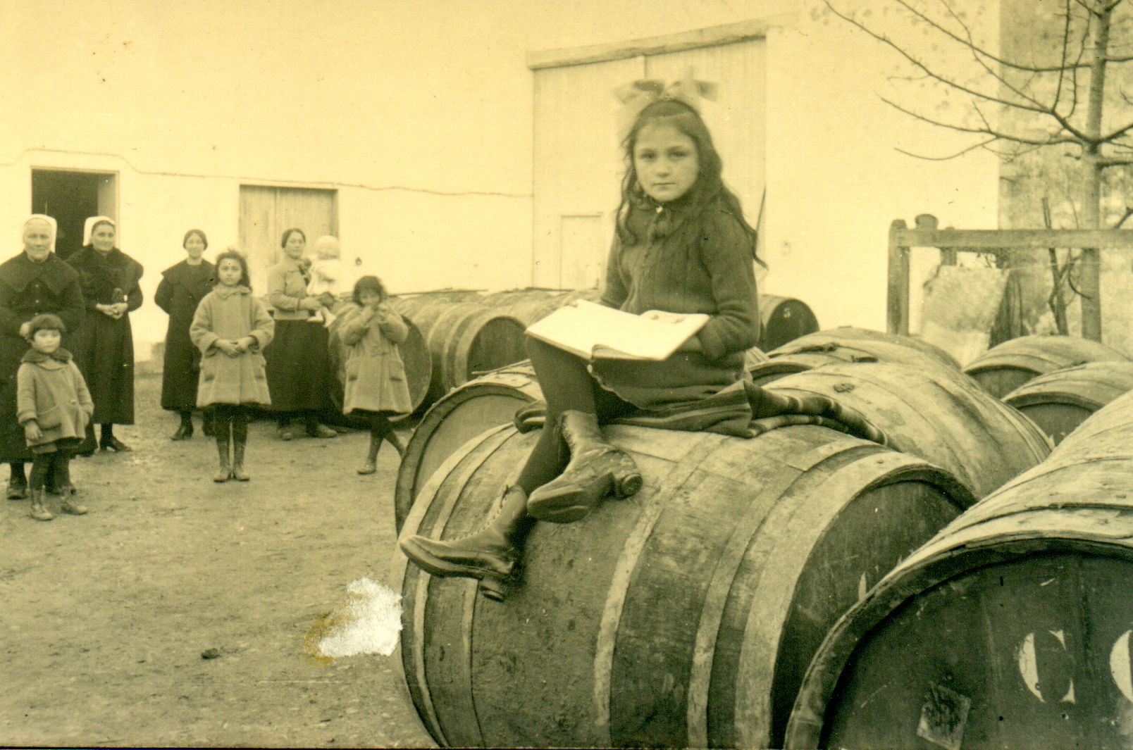
[[[523,331],[539,318],[578,299],[596,301],[598,290],[555,291],[519,289],[484,295],[444,290],[394,297],[398,312],[409,322],[409,338],[401,346],[409,394],[415,410],[423,410],[479,374],[520,361]],[[341,314],[330,327],[332,404],[341,409],[347,349],[339,330]],[[796,299],[763,296],[761,348],[818,330],[813,313]]]

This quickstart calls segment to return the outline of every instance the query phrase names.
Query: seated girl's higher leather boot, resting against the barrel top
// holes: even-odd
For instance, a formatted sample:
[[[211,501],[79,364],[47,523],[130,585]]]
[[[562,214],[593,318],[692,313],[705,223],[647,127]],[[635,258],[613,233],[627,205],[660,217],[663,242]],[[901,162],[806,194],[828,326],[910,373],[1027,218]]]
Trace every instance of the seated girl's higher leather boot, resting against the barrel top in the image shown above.
[[[559,420],[570,446],[566,469],[531,493],[527,512],[540,521],[570,523],[585,518],[606,495],[629,497],[641,488],[633,459],[611,446],[598,429],[598,418],[585,411],[563,411]]]

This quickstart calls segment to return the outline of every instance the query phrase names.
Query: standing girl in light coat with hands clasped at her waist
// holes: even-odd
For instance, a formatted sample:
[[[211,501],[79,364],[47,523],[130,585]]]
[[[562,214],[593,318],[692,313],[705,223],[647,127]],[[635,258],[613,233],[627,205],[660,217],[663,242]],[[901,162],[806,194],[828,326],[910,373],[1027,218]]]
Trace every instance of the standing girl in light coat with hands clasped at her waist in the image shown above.
[[[247,261],[235,249],[216,257],[216,281],[189,326],[189,339],[202,355],[197,406],[214,407],[220,468],[213,481],[247,481],[250,477],[244,470],[244,451],[248,409],[272,402],[262,352],[272,340],[275,323],[264,304],[253,297]]]

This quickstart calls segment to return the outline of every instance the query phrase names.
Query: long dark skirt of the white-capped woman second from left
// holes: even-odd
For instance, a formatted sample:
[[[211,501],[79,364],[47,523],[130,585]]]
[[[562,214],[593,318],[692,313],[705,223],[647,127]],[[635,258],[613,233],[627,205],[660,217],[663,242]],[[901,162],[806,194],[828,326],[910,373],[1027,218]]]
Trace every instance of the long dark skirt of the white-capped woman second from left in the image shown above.
[[[87,310],[75,334],[78,365],[94,401],[92,424],[134,424],[134,332],[130,316],[117,321]]]

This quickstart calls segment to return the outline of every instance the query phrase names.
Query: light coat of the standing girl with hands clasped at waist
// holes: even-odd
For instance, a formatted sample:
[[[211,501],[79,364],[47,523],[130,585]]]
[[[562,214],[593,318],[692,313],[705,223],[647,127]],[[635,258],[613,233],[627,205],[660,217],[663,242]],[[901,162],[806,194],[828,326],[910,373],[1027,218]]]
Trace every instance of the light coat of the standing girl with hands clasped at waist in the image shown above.
[[[201,350],[197,406],[270,404],[263,350],[274,332],[275,322],[267,308],[247,287],[218,285],[208,292],[189,326],[189,339]],[[229,357],[214,346],[220,339],[236,341],[245,336],[256,341],[238,357]]]

